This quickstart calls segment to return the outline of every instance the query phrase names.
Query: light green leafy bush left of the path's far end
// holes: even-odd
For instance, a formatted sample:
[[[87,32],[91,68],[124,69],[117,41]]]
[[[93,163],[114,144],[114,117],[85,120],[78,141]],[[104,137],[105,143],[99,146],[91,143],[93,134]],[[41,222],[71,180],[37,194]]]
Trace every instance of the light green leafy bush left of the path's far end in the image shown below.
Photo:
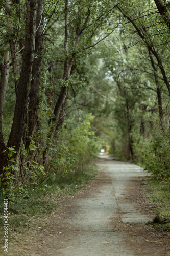
[[[63,182],[71,182],[87,172],[90,161],[98,151],[98,140],[90,129],[93,120],[91,114],[86,115],[83,122],[71,131],[63,130],[56,146],[51,147],[52,175],[57,175]]]

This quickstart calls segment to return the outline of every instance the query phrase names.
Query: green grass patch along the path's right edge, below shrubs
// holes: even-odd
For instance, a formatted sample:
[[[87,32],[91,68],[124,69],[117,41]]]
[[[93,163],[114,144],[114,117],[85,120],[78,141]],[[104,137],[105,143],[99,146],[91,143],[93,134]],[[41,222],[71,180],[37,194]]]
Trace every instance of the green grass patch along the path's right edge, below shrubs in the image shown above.
[[[158,183],[152,179],[147,181],[150,198],[156,203],[153,212],[156,213],[153,221],[150,222],[160,231],[170,231],[170,188],[169,184]]]

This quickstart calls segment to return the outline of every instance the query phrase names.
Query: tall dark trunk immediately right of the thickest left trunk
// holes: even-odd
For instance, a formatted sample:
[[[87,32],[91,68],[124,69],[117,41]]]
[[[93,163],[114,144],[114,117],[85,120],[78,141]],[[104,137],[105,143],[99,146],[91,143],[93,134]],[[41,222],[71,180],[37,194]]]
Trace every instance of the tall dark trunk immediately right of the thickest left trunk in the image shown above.
[[[31,137],[38,129],[38,108],[39,108],[39,87],[40,71],[43,45],[43,8],[44,0],[38,1],[36,35],[35,35],[35,54],[32,69],[32,80],[29,94],[29,112],[28,112],[28,140],[27,149],[29,148]]]

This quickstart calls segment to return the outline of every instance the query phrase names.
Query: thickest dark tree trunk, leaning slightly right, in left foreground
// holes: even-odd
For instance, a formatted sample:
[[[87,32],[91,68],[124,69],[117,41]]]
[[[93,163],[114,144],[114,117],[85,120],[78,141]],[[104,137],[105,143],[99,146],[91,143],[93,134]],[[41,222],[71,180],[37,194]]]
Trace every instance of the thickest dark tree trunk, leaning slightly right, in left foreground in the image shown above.
[[[35,49],[35,31],[36,31],[36,15],[37,15],[38,0],[29,0],[26,16],[26,36],[25,36],[25,51],[22,60],[21,73],[18,83],[18,92],[16,97],[15,111],[11,133],[8,139],[6,148],[14,147],[15,151],[19,150],[22,134],[25,126],[25,118],[27,113],[28,94],[31,80],[31,71],[34,59]],[[3,139],[3,138],[2,138]],[[3,152],[2,145],[0,146],[0,175],[3,174],[3,167],[7,163],[6,154]],[[13,156],[14,160],[16,155]],[[5,180],[2,180],[2,185]]]

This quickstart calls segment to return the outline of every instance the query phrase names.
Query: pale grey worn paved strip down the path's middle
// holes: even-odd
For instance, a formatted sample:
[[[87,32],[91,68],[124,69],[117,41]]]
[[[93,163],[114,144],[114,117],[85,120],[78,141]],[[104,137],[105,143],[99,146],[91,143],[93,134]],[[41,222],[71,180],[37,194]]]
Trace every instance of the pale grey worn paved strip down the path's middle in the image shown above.
[[[146,223],[149,216],[141,214],[131,204],[124,202],[125,186],[132,177],[146,175],[129,163],[107,161],[99,163],[106,176],[102,184],[83,198],[75,199],[64,216],[67,230],[56,248],[47,250],[51,255],[104,256],[136,255],[128,248],[127,233],[114,230],[115,222]],[[152,255],[152,254],[150,254]]]

